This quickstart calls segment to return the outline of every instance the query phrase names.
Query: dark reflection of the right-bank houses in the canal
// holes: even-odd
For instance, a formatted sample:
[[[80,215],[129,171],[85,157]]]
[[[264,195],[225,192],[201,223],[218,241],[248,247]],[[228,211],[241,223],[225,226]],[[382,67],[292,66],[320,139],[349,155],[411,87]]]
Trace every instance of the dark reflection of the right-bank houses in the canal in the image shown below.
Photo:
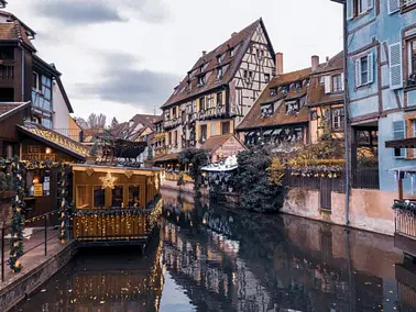
[[[416,311],[392,237],[164,196],[163,261],[201,311]]]

